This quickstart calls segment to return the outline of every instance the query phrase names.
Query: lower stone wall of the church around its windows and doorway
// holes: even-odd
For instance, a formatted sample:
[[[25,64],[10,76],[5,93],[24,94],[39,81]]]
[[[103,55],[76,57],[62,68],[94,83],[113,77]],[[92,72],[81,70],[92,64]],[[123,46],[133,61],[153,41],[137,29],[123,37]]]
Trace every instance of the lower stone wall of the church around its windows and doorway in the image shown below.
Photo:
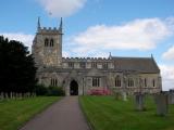
[[[121,76],[121,87],[115,87],[115,77]],[[94,87],[92,86],[92,78],[99,77],[100,78],[100,86]],[[119,92],[126,91],[127,93],[135,93],[135,92],[142,92],[142,93],[156,93],[161,91],[161,87],[159,86],[160,82],[158,80],[159,74],[140,74],[140,75],[132,75],[127,76],[127,79],[132,77],[134,79],[134,86],[128,87],[127,80],[126,83],[124,81],[123,73],[116,72],[114,69],[65,69],[65,68],[45,68],[42,72],[38,73],[39,83],[45,86],[51,86],[51,79],[57,79],[59,87],[63,87],[66,91],[66,95],[70,94],[70,83],[72,80],[75,80],[78,83],[78,93],[88,94],[90,89],[96,88],[105,88]],[[145,77],[148,78],[147,87],[145,87],[145,82],[141,82],[140,79]],[[151,80],[156,80],[156,86],[152,86]]]

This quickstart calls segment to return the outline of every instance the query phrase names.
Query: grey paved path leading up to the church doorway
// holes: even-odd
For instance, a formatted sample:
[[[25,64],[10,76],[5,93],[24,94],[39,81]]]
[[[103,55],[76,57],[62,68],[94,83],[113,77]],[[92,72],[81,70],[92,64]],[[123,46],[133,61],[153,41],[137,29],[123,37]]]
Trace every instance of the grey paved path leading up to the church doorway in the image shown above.
[[[21,130],[89,130],[78,96],[65,96],[28,121]]]

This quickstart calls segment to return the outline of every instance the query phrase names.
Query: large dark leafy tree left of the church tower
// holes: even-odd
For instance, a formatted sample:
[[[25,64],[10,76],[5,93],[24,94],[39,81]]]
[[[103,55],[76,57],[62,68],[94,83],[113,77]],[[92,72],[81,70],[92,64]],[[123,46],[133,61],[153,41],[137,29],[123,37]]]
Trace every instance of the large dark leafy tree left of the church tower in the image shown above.
[[[0,36],[0,91],[33,92],[35,76],[36,67],[27,47]]]

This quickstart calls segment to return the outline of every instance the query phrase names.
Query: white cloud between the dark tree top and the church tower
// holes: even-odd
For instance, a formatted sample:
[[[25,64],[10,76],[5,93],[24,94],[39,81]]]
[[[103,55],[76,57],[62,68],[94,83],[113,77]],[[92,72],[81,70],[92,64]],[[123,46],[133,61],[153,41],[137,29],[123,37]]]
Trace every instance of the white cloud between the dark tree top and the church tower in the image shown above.
[[[23,32],[0,32],[0,35],[3,35],[5,38],[9,38],[10,40],[17,40],[23,42],[26,47],[28,47],[28,50],[30,51],[30,47],[34,40],[33,35],[26,35]]]

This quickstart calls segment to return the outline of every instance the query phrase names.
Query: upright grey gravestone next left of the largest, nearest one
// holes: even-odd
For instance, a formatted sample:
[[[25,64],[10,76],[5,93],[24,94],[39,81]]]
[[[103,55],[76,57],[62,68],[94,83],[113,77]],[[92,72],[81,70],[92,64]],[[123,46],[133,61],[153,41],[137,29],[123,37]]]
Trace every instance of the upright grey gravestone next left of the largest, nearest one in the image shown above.
[[[145,110],[145,94],[136,93],[135,94],[135,104],[137,110]]]

